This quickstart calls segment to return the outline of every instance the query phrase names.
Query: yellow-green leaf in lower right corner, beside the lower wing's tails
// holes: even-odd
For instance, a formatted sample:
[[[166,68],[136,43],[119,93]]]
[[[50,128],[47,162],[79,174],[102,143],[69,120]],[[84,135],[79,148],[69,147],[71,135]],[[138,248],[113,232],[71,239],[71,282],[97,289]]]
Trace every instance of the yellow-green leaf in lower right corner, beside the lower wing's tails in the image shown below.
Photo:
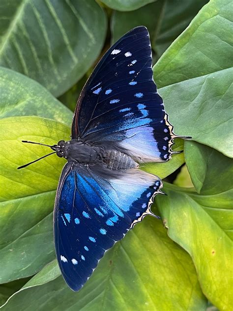
[[[229,182],[226,176],[226,190],[213,195],[167,184],[168,196],[158,196],[156,201],[169,236],[191,255],[204,295],[220,310],[233,309],[233,191],[227,190]]]

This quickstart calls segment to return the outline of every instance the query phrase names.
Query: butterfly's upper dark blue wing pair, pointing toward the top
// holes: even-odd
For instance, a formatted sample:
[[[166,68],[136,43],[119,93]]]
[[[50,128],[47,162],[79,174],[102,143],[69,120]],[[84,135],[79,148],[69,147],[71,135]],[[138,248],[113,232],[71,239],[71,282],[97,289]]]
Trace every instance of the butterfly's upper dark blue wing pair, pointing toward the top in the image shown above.
[[[137,27],[95,67],[78,100],[72,138],[114,142],[139,161],[166,161],[172,129],[153,81],[148,31]]]

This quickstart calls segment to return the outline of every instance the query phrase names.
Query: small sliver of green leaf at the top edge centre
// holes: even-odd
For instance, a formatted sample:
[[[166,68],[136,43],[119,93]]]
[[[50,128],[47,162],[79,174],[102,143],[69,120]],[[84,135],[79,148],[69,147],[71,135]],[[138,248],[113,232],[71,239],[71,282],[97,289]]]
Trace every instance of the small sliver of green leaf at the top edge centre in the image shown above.
[[[105,5],[118,11],[133,11],[155,0],[101,0]]]

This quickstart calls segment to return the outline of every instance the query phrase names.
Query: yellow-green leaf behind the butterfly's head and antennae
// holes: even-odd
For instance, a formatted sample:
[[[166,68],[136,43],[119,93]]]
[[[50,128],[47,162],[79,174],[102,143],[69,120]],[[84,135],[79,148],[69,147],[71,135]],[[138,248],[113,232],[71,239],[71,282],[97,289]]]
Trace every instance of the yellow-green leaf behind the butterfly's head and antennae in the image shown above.
[[[0,120],[0,282],[35,274],[55,258],[53,205],[65,160],[46,157],[27,168],[19,165],[49,153],[47,147],[21,140],[55,144],[69,139],[70,128],[39,117]]]

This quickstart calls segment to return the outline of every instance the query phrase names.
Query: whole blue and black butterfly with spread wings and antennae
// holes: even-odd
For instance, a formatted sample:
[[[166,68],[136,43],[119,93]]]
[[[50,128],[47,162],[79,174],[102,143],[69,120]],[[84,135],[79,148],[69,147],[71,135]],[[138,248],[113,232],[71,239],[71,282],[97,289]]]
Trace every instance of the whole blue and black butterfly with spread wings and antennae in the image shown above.
[[[49,147],[67,159],[54,238],[63,278],[78,291],[106,250],[153,215],[150,206],[162,193],[162,181],[139,164],[168,161],[174,138],[181,137],[173,133],[153,81],[146,27],[123,35],[96,65],[78,99],[71,133],[70,141]]]

